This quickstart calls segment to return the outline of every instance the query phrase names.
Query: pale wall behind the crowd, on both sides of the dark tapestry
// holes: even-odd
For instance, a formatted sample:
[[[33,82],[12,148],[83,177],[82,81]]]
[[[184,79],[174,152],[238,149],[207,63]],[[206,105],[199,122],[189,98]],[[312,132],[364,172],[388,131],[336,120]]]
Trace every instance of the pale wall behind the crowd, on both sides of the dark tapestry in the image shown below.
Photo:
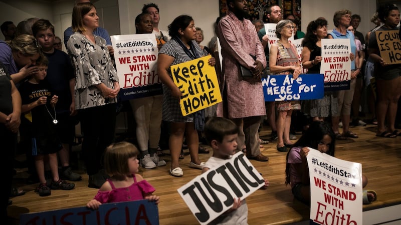
[[[101,25],[113,35],[135,33],[135,16],[141,12],[143,4],[149,2],[160,8],[159,28],[167,30],[167,25],[176,16],[188,14],[194,18],[195,25],[204,30],[203,44],[207,45],[214,35],[212,26],[219,16],[219,0],[97,0],[95,5]],[[70,26],[73,4],[74,0],[0,0],[0,23],[11,20],[17,25],[29,17],[47,18],[55,25],[56,35],[62,36],[64,29]],[[309,21],[319,16],[328,20],[329,29],[334,28],[333,14],[341,8],[362,17],[358,27],[362,33],[374,26],[369,20],[375,11],[376,0],[302,0],[301,7],[303,31]]]

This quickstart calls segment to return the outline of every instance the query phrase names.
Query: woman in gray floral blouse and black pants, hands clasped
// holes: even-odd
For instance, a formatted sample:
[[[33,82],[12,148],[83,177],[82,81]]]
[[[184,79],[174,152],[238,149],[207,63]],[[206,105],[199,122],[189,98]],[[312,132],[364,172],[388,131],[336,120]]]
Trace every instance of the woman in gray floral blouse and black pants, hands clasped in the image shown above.
[[[82,151],[89,187],[99,188],[107,175],[102,172],[102,155],[114,140],[116,102],[120,90],[106,40],[93,34],[99,26],[95,6],[78,3],[72,13],[67,50],[75,67],[75,105],[84,134]]]

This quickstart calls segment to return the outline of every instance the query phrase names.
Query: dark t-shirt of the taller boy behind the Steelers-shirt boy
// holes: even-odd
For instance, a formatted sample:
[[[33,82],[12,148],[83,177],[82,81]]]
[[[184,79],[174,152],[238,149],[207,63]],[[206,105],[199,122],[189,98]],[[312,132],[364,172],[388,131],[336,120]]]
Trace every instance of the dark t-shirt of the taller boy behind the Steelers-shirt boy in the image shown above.
[[[45,80],[49,82],[54,94],[59,96],[56,111],[68,112],[71,105],[70,79],[75,78],[71,59],[66,52],[57,49],[53,53],[44,54],[49,59]]]

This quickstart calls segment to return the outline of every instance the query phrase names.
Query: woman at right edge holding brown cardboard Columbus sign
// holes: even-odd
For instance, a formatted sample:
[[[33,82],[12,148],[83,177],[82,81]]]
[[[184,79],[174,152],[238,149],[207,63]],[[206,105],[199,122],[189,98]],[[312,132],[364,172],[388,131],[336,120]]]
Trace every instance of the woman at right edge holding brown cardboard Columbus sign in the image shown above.
[[[397,46],[386,54],[399,55],[399,36],[393,38],[393,43],[388,43],[388,39],[391,39],[390,32],[393,34],[398,33],[397,24],[399,23],[399,10],[393,4],[385,4],[377,9],[378,17],[384,22],[374,32],[371,32],[368,43],[368,54],[369,57],[374,61],[374,77],[376,78],[376,90],[377,90],[377,101],[376,101],[376,116],[377,116],[377,132],[376,136],[381,137],[396,137],[401,136],[401,131],[398,131],[394,127],[395,115],[397,112],[397,102],[401,95],[401,63],[390,64],[389,61],[383,60],[380,52],[380,45],[388,44],[389,46]],[[391,31],[396,30],[396,32]],[[377,40],[376,33],[381,32],[381,36],[388,35],[388,38],[382,38]],[[387,40],[387,41],[386,41]],[[399,57],[399,56],[398,56]],[[396,57],[395,57],[396,58]],[[387,121],[387,124],[385,124]]]

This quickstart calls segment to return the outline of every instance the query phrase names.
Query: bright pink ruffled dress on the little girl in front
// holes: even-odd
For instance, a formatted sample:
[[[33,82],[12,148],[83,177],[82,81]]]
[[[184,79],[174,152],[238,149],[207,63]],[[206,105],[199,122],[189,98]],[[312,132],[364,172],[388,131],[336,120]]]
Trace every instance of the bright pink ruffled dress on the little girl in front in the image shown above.
[[[145,195],[155,191],[154,187],[145,179],[136,182],[135,174],[132,174],[132,176],[134,183],[131,186],[119,188],[116,188],[113,182],[107,179],[113,189],[109,191],[99,190],[95,199],[102,203],[142,200]]]

